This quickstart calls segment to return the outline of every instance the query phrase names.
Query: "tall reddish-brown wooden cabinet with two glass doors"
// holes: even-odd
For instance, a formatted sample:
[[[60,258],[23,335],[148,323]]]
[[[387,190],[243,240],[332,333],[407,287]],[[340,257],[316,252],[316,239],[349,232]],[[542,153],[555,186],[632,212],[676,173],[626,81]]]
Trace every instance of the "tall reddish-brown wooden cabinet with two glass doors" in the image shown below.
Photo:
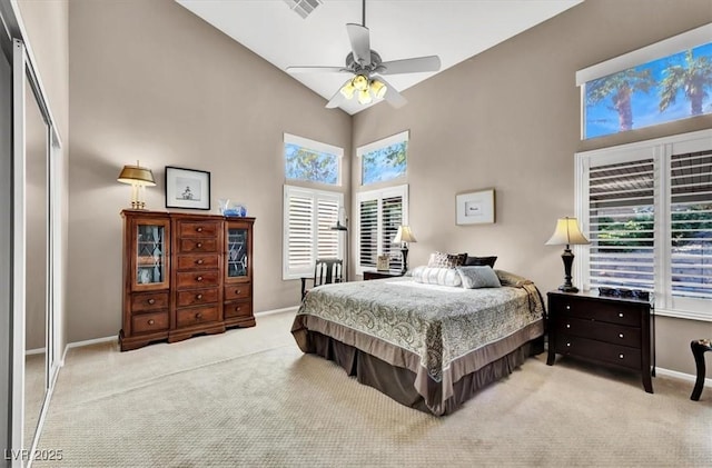
[[[122,351],[255,326],[254,218],[145,210],[121,216]]]

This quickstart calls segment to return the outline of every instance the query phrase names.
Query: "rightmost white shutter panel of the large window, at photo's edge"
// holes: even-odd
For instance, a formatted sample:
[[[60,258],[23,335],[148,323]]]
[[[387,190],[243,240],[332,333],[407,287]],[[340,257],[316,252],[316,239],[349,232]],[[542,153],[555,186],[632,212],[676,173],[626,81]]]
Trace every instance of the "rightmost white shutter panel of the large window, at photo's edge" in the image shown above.
[[[712,299],[712,151],[670,166],[672,296]]]

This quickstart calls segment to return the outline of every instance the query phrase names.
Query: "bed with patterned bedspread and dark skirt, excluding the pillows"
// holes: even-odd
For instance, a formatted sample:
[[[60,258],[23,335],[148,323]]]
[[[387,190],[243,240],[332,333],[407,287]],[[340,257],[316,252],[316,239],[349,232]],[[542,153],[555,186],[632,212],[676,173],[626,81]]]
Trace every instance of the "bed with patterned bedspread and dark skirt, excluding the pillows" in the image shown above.
[[[544,349],[536,286],[494,270],[502,287],[419,282],[413,277],[310,290],[291,333],[306,354],[408,407],[442,416]]]

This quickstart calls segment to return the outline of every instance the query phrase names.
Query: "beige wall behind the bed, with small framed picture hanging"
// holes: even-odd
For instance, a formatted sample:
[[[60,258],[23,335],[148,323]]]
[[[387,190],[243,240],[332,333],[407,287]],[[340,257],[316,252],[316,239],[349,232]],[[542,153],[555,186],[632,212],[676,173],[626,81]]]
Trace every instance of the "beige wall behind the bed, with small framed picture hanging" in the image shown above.
[[[434,250],[496,255],[542,291],[561,285],[562,249],[544,242],[558,217],[574,215],[574,153],[712,127],[706,116],[582,142],[576,70],[710,21],[710,0],[586,0],[406,90],[402,109],[356,114],[353,151],[411,130],[411,265]],[[352,175],[358,190],[357,160]],[[456,226],[455,193],[488,187],[496,223]],[[690,340],[709,336],[710,322],[660,317],[657,365],[694,374]]]

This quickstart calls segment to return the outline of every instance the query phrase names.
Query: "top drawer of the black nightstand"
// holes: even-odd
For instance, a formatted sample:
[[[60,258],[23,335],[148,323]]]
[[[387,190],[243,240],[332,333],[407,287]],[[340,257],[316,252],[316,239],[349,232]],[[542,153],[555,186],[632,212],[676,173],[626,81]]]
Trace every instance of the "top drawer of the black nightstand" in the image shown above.
[[[644,312],[643,308],[635,303],[592,301],[568,297],[552,298],[550,311],[553,317],[570,316],[637,327],[641,326],[641,315]]]

